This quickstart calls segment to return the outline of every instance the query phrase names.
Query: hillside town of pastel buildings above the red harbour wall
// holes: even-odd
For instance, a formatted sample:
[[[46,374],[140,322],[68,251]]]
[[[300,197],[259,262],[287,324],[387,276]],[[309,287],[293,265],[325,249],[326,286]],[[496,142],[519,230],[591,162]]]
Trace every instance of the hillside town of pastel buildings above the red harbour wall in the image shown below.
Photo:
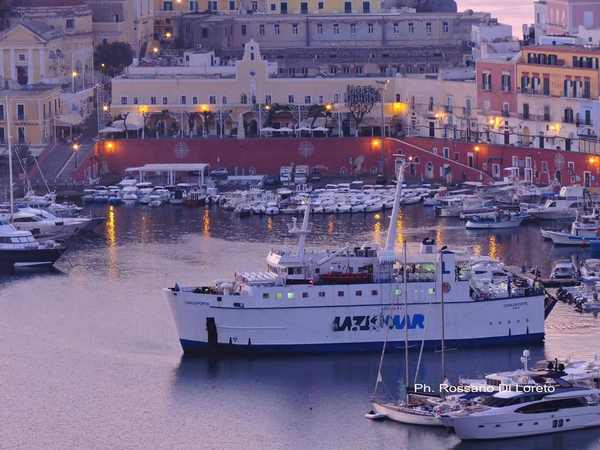
[[[596,154],[600,6],[566,3],[534,2],[535,23],[514,30],[453,1],[14,0],[0,142],[79,183],[125,139],[421,137]],[[590,172],[565,169],[563,183]]]

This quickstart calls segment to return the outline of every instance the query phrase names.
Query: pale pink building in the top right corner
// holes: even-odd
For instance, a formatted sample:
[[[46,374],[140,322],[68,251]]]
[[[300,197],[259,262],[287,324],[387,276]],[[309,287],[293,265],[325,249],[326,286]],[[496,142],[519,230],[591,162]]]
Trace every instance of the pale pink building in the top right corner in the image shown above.
[[[600,27],[598,0],[546,0],[546,33],[575,33],[579,26]]]

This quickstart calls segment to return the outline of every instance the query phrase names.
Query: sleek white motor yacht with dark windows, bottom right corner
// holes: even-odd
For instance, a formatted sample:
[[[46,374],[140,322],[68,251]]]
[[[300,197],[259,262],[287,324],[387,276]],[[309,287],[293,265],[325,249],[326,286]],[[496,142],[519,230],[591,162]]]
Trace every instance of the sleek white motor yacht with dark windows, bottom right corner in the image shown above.
[[[440,420],[464,440],[533,436],[600,426],[599,389],[552,381],[539,390],[497,392],[482,398],[477,405],[448,412]]]

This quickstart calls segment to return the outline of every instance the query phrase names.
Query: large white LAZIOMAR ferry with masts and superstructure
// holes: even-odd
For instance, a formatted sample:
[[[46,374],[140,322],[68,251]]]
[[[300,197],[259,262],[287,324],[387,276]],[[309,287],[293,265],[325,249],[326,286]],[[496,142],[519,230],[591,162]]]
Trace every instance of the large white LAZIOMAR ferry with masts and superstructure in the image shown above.
[[[266,271],[164,289],[184,352],[366,351],[384,341],[388,350],[437,347],[442,329],[453,346],[542,341],[556,301],[533,279],[472,277],[476,257],[430,239],[396,252],[404,164],[383,248],[306,250],[307,204],[302,225],[290,228],[297,248],[271,251]]]

